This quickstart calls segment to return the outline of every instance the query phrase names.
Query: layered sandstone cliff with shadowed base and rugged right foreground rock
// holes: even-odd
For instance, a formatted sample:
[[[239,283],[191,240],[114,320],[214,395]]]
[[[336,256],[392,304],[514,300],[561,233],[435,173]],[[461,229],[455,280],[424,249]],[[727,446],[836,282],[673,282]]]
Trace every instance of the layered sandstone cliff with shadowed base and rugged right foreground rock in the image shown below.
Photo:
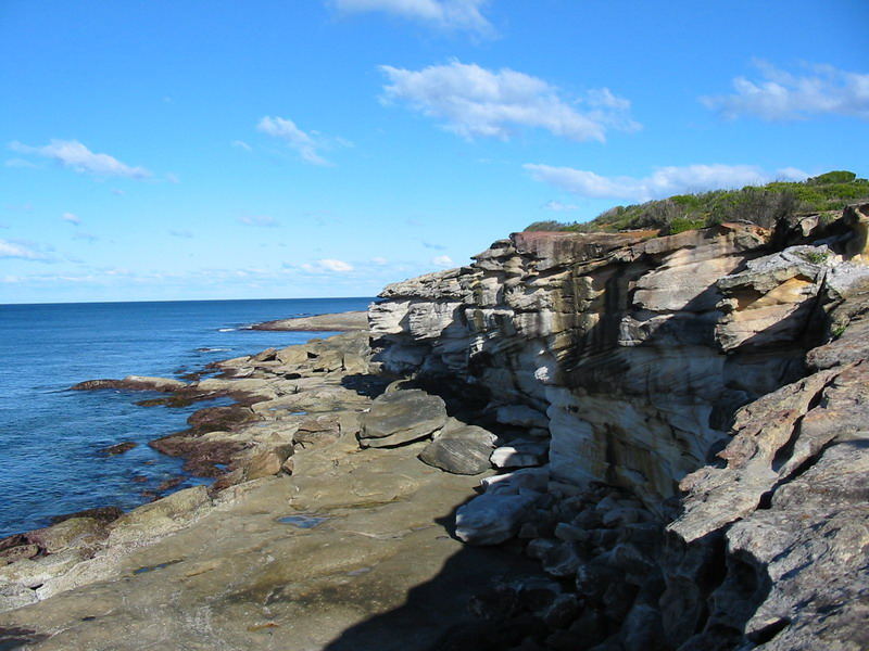
[[[487,520],[471,502],[459,535],[499,541],[480,531],[498,520],[531,539],[587,610],[625,623],[614,649],[642,648],[638,627],[659,640],[648,648],[865,648],[867,214],[516,233],[468,267],[389,285],[369,311],[383,368],[479,394],[516,458],[544,450],[513,464],[542,465],[514,473],[528,481],[513,506],[478,508]],[[619,561],[568,532],[595,500],[613,511],[604,486],[668,533]],[[613,523],[624,537],[637,518]],[[645,571],[626,571],[626,553]],[[615,611],[583,593],[599,566],[632,590]]]

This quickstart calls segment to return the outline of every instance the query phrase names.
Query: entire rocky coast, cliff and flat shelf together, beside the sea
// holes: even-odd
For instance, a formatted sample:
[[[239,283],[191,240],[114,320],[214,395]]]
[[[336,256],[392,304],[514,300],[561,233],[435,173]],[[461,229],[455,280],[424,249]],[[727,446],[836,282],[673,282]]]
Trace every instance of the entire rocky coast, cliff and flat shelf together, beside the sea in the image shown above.
[[[158,403],[215,477],[0,541],[0,646],[869,647],[869,205],[517,233]],[[153,403],[153,401],[152,401]]]

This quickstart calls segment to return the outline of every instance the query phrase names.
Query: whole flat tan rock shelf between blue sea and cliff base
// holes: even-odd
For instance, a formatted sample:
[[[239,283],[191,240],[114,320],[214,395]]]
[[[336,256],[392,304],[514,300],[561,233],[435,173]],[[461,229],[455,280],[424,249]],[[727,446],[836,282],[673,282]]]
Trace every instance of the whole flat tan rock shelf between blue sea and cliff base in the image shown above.
[[[475,628],[477,617],[465,604],[487,587],[492,572],[516,580],[534,573],[530,561],[509,551],[465,553],[449,534],[451,511],[474,495],[480,476],[492,474],[494,435],[486,433],[484,467],[442,472],[443,459],[430,454],[432,435],[443,431],[445,443],[462,441],[465,431],[475,438],[482,430],[448,416],[443,399],[373,373],[370,355],[369,333],[353,332],[217,362],[219,376],[191,383],[129,376],[76,385],[159,391],[167,394],[164,400],[232,397],[234,405],[200,410],[189,430],[151,444],[184,457],[186,470],[216,481],[123,514],[74,514],[0,542],[0,608],[7,611],[0,614],[0,642],[10,649],[140,649],[172,639],[174,648],[310,649],[330,642],[356,648],[364,639],[367,648],[398,649],[440,643],[444,621]],[[238,574],[236,557],[250,550],[250,532],[256,554]],[[213,547],[190,546],[212,536]],[[343,551],[318,552],[320,546]],[[451,562],[455,569],[444,575]],[[257,563],[280,567],[282,578],[263,577]],[[209,582],[185,587],[176,610],[156,605],[200,573]],[[415,604],[400,616],[405,626],[413,624],[407,637],[394,647],[376,643],[392,624],[371,620],[401,609],[405,596],[429,580],[436,585],[426,593],[453,601],[437,614],[424,602]],[[218,593],[223,582],[234,585],[231,593]],[[286,601],[280,608],[275,590],[288,591],[278,599]],[[341,597],[347,590],[356,595],[350,604]],[[209,609],[214,600],[235,603],[241,591],[250,592],[242,610],[261,609],[257,616],[210,620],[209,631],[176,621],[205,608],[203,602]],[[313,603],[298,598],[312,591],[330,597]],[[131,633],[129,610],[102,605],[115,600],[159,616],[160,634],[149,637],[136,627]],[[297,621],[301,616],[304,625]],[[275,637],[288,620],[295,642]],[[349,634],[355,626],[360,631]]]

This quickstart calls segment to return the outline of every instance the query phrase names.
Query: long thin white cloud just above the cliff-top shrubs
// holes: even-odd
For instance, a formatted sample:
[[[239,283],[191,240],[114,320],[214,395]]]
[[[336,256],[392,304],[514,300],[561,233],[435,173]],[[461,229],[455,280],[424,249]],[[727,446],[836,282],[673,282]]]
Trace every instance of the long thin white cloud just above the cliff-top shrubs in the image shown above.
[[[550,165],[524,165],[531,178],[592,199],[625,199],[637,202],[663,199],[672,194],[702,192],[721,188],[741,188],[768,183],[777,178],[805,179],[808,175],[793,167],[767,174],[754,165],[688,165],[660,167],[647,177],[605,177],[593,171]]]

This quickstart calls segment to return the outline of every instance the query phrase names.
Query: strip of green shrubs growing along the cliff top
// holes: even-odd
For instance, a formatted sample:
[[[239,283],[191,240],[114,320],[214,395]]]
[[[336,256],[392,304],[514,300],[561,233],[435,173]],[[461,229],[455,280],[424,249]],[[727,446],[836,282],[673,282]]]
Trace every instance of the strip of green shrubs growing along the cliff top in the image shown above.
[[[774,181],[616,206],[584,224],[536,221],[525,230],[589,233],[659,229],[662,234],[675,234],[740,219],[770,227],[789,215],[841,210],[861,199],[869,199],[868,180],[858,179],[853,171],[828,171],[799,182]]]

